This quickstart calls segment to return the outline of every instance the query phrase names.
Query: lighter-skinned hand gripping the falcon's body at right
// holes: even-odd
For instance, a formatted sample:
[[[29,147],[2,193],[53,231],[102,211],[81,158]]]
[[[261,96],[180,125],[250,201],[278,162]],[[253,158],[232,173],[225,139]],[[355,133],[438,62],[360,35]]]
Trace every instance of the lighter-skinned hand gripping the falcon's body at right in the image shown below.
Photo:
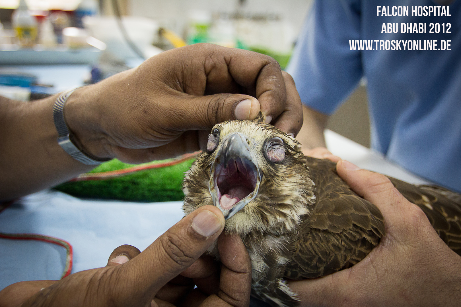
[[[438,237],[423,211],[384,175],[343,160],[337,173],[381,210],[385,235],[355,266],[290,282],[301,306],[460,306],[461,257]]]

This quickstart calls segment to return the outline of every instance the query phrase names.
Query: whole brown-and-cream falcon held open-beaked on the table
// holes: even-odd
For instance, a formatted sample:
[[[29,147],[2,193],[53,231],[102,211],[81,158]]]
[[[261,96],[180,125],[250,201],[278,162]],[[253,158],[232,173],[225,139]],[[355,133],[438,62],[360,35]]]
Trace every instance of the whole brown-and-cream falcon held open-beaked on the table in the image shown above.
[[[461,255],[461,196],[440,187],[396,188],[426,213]],[[183,181],[185,214],[215,205],[252,264],[252,295],[296,306],[286,279],[316,278],[353,266],[384,235],[383,216],[337,175],[336,164],[302,154],[300,143],[259,119],[213,127]],[[208,252],[219,260],[217,247]]]

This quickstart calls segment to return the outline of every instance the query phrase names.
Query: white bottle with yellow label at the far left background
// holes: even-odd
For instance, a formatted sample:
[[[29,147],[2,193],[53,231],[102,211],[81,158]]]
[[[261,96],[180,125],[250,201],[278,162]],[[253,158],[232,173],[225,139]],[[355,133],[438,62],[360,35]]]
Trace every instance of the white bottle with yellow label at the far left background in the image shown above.
[[[25,0],[19,1],[19,7],[13,12],[11,21],[19,44],[23,47],[34,46],[37,38],[37,20],[30,14]]]

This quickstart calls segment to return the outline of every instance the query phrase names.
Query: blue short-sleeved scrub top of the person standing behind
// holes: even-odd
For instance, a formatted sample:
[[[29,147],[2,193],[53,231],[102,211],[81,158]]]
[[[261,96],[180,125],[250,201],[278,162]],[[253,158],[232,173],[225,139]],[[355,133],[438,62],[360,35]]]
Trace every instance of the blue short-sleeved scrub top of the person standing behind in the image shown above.
[[[386,13],[389,6],[391,16],[382,16],[382,8],[377,16],[378,5],[385,6]],[[393,6],[408,6],[409,16],[392,16],[397,13]],[[438,4],[430,0],[315,1],[287,71],[302,102],[325,114],[333,113],[366,76],[372,148],[415,174],[461,192],[461,0],[449,6],[451,17],[412,16],[412,6]],[[387,23],[394,27],[397,23],[398,33],[396,29],[381,33],[383,23],[386,32]],[[405,32],[407,23],[417,23],[418,31],[419,23],[426,23],[426,33],[413,32],[414,27],[413,33],[401,33],[402,23]],[[440,24],[439,33],[429,33],[430,23]],[[451,33],[446,33],[447,23]],[[372,48],[382,47],[375,40],[383,41],[384,50],[359,51],[357,46],[350,50],[349,41],[372,41]],[[412,50],[408,43],[403,50],[408,40]],[[425,40],[437,40],[437,48],[442,40],[450,41],[451,50],[414,50],[413,40],[418,47],[421,40],[423,49]],[[391,50],[397,41],[402,41],[402,50]]]

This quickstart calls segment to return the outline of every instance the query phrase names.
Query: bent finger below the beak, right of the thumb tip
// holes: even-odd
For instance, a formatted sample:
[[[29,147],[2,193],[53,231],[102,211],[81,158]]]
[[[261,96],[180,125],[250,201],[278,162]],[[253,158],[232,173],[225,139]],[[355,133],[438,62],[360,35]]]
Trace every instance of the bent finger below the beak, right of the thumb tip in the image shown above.
[[[248,306],[251,292],[251,261],[238,235],[222,234],[218,239],[221,259],[219,292],[201,306]],[[228,304],[228,305],[227,305]]]

